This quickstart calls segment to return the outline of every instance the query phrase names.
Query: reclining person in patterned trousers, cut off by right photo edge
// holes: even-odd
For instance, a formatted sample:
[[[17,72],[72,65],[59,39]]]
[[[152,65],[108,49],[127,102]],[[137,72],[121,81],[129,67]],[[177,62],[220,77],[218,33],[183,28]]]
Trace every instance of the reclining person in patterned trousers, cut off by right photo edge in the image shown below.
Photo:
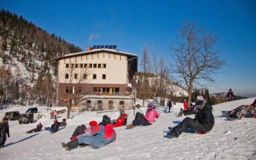
[[[250,113],[254,118],[256,118],[256,99],[250,105],[242,105],[228,112],[222,112],[222,114],[228,116],[230,120],[240,120],[247,113]]]

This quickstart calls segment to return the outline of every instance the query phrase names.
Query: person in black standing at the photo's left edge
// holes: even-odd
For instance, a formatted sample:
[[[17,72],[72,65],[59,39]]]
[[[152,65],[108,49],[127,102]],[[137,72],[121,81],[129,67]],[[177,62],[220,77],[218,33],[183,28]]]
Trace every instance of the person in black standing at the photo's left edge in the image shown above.
[[[1,122],[0,124],[0,148],[4,147],[4,144],[7,140],[6,134],[8,138],[10,137],[8,118],[3,118],[3,119],[4,119],[4,122]]]

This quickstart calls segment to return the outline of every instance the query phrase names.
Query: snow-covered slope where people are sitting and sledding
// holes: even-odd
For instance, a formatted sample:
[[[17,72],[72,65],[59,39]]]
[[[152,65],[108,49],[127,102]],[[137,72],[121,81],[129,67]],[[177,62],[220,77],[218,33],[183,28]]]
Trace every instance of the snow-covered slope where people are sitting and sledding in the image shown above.
[[[84,112],[72,114],[68,125],[54,134],[43,130],[38,133],[26,134],[36,124],[18,124],[10,122],[10,138],[6,148],[0,149],[1,160],[255,160],[256,159],[256,119],[243,118],[239,121],[228,121],[222,116],[222,110],[231,110],[242,104],[250,104],[255,98],[238,100],[218,104],[214,107],[215,125],[206,135],[182,133],[179,138],[166,138],[168,126],[175,126],[184,119],[177,117],[182,104],[176,104],[173,112],[166,113],[160,110],[160,118],[151,126],[138,126],[131,130],[125,127],[115,128],[117,140],[100,149],[90,147],[77,148],[70,152],[64,150],[61,142],[68,142],[77,125],[83,122],[88,126],[90,120],[100,122],[104,114],[116,118],[118,112],[96,114]],[[149,101],[147,101],[149,102]],[[28,107],[26,107],[28,108]],[[9,110],[25,111],[24,107],[10,108]],[[46,113],[45,107],[38,107]],[[56,108],[59,109],[59,108]],[[5,110],[7,111],[7,110]],[[0,110],[0,118],[4,115]],[[145,113],[145,108],[138,109]],[[134,119],[133,110],[129,114],[128,124]],[[65,118],[61,114],[58,118]],[[36,117],[36,116],[35,116]],[[191,115],[190,117],[194,117]],[[40,120],[44,127],[50,126],[50,117]]]

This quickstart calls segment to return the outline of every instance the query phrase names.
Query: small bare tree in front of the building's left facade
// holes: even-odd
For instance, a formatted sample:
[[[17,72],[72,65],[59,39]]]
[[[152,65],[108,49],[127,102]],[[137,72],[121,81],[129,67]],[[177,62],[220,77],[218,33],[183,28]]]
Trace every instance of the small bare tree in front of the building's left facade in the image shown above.
[[[68,74],[68,77],[66,77]],[[86,95],[86,91],[81,91],[81,84],[86,84],[90,81],[89,76],[91,72],[88,68],[65,68],[61,74],[60,79],[66,84],[66,89],[68,91],[68,101],[66,101],[66,106],[68,108],[67,119],[70,118],[70,110],[72,103],[77,103]]]

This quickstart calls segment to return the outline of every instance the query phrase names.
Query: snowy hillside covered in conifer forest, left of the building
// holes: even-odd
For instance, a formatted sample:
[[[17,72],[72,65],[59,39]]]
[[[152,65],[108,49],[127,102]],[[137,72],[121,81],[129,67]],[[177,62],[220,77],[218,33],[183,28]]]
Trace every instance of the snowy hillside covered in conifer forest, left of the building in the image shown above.
[[[81,52],[22,16],[0,11],[0,105],[46,104],[54,98],[54,58]]]

